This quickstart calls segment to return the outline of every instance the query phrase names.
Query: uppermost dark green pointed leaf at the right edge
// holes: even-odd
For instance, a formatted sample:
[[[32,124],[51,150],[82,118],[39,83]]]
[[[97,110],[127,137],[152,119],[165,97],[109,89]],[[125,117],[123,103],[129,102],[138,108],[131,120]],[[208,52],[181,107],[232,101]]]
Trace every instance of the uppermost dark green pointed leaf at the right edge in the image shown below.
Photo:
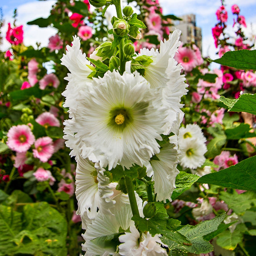
[[[256,70],[256,50],[225,52],[221,58],[216,59],[213,62],[240,70]]]

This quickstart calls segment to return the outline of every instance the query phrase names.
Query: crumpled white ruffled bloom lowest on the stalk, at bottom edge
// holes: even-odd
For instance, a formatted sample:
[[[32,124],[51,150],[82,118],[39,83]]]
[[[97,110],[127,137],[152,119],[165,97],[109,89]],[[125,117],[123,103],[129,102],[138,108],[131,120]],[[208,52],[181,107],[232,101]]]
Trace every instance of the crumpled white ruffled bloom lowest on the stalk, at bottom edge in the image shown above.
[[[167,252],[161,245],[161,235],[156,234],[154,237],[149,232],[140,233],[134,225],[131,225],[130,232],[119,236],[122,243],[119,247],[119,254],[122,256],[167,256]]]

